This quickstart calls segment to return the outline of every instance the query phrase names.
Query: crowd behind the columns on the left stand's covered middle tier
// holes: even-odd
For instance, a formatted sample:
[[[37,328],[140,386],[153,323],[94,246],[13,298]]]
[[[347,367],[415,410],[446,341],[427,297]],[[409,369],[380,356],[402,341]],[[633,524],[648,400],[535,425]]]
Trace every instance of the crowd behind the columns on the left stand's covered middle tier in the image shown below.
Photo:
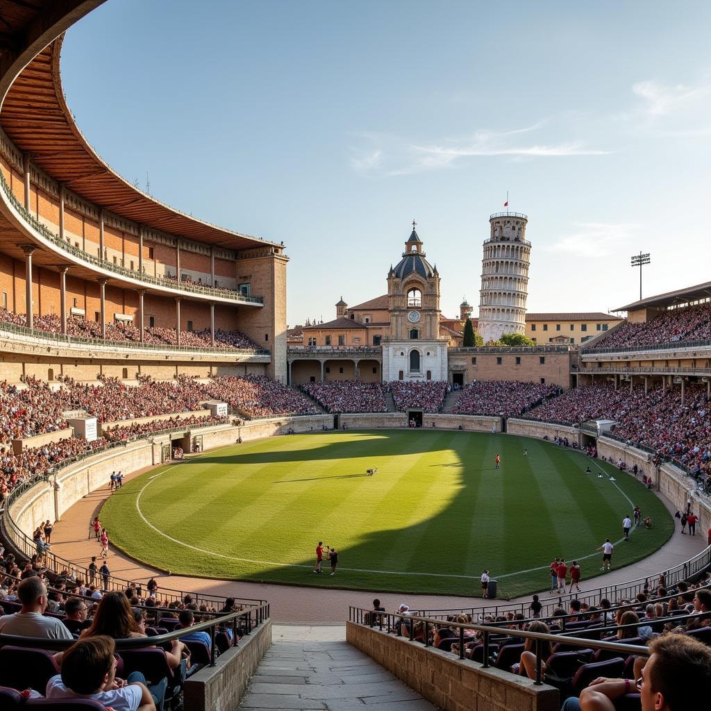
[[[0,324],[13,324],[14,326],[27,326],[25,314],[15,314],[13,311],[0,308]],[[61,333],[62,322],[58,314],[35,314],[32,319],[33,328],[46,333]],[[67,319],[67,335],[73,338],[93,338],[101,340],[102,328],[97,321],[89,321],[70,317]],[[181,346],[190,348],[220,348],[255,350],[260,348],[249,336],[245,336],[240,331],[223,331],[215,329],[215,343],[210,341],[210,329],[204,328],[201,331],[181,331]],[[140,343],[141,331],[131,323],[115,321],[106,324],[106,340],[113,343]],[[178,336],[175,328],[160,328],[159,326],[149,326],[144,328],[144,343],[147,345],[177,346]]]

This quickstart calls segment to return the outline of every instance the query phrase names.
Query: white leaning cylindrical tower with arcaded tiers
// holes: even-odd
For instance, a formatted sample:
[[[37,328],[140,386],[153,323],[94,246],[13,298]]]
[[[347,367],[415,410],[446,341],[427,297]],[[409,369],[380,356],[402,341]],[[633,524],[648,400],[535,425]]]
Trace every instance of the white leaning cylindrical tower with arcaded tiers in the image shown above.
[[[528,217],[496,213],[489,218],[491,236],[484,242],[479,299],[479,335],[484,343],[503,333],[525,333],[526,296],[531,245]]]

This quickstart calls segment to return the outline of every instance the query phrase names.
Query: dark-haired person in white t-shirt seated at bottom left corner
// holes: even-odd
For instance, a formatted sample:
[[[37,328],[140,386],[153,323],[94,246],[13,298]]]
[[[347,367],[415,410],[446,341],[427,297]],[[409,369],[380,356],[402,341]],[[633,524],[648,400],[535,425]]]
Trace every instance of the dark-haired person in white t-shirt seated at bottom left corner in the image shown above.
[[[115,649],[112,638],[106,636],[77,641],[64,653],[62,673],[48,681],[46,697],[94,699],[114,711],[156,711],[156,702],[161,708],[166,680],[148,688],[139,672],[125,681],[117,678]]]

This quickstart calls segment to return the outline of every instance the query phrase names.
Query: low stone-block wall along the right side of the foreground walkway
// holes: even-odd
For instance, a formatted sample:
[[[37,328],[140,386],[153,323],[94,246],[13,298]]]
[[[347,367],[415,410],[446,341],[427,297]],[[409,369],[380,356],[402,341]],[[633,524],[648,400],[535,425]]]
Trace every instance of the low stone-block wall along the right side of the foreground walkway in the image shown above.
[[[346,622],[346,641],[445,711],[558,711],[559,694],[503,669],[483,668],[449,652]]]

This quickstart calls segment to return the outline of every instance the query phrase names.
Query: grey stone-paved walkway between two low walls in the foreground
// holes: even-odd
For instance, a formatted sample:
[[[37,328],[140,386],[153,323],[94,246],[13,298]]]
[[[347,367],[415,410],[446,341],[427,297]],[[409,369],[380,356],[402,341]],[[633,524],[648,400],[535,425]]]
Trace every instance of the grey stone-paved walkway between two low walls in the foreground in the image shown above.
[[[346,640],[343,625],[274,625],[274,643],[240,711],[434,711],[434,706]]]

